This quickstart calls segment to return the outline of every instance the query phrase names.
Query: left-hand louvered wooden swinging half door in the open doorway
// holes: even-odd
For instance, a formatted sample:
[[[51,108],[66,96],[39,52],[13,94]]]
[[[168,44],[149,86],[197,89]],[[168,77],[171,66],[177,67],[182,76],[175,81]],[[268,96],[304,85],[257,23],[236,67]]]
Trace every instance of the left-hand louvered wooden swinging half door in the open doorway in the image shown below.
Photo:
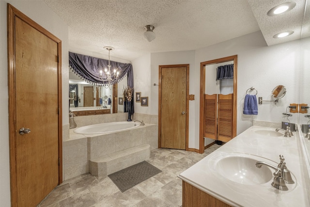
[[[204,137],[217,140],[217,94],[204,95]]]

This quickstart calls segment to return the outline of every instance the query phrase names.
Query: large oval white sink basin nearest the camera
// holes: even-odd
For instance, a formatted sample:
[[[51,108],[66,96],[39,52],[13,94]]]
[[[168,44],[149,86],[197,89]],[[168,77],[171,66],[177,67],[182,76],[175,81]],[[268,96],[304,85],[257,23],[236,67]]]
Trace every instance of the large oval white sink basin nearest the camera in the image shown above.
[[[255,166],[257,161],[277,165],[269,159],[243,153],[224,153],[213,159],[218,174],[244,185],[261,185],[273,178],[273,172],[268,167],[257,168]]]

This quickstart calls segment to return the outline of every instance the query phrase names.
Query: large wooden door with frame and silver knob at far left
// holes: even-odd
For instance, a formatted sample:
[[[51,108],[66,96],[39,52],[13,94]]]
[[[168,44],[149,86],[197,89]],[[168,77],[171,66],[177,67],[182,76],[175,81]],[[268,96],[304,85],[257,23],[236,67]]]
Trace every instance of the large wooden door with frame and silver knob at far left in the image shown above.
[[[62,182],[61,40],[9,4],[8,32],[11,203],[35,207]]]

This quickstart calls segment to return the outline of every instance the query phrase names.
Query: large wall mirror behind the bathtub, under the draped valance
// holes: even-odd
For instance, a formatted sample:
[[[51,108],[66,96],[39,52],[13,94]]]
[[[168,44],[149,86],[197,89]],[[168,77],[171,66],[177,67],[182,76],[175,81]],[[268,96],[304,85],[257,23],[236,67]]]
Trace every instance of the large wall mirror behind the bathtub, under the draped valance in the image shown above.
[[[111,113],[124,112],[124,106],[118,102],[122,97],[123,88],[127,79],[120,80],[118,84],[108,88],[96,87],[83,81],[74,72],[69,72],[69,110],[82,111],[88,109],[110,109]],[[114,92],[113,92],[114,90]]]

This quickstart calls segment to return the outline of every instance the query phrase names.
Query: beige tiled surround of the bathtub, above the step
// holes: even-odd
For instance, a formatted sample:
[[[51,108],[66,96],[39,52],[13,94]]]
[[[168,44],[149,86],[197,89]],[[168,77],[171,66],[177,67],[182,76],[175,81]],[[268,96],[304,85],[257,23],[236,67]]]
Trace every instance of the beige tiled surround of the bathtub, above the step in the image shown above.
[[[69,140],[63,142],[64,180],[91,172],[93,165],[90,165],[90,159],[97,159],[142,144],[149,144],[150,149],[158,148],[158,126],[153,124],[97,135],[76,134],[74,130],[69,130]],[[141,154],[137,156],[140,159],[144,158],[146,152],[143,156]],[[140,160],[138,157],[135,161]]]

